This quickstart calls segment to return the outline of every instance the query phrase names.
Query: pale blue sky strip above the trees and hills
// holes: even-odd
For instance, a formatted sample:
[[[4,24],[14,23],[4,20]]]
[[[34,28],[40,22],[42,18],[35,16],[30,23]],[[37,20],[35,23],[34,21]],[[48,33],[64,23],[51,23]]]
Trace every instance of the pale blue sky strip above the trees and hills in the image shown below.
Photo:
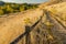
[[[41,2],[45,2],[47,0],[2,0],[6,2],[16,2],[16,3],[41,3]]]

